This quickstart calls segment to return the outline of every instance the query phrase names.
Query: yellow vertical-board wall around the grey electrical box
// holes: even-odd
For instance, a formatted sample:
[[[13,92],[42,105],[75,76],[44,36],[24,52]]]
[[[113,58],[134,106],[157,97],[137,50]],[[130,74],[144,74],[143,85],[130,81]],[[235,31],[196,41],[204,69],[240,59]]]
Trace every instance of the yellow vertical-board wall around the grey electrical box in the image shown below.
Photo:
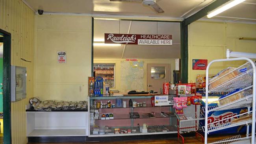
[[[27,68],[27,98],[11,103],[12,143],[26,144],[25,105],[34,93],[35,13],[21,0],[0,0],[0,28],[11,33],[11,65]]]

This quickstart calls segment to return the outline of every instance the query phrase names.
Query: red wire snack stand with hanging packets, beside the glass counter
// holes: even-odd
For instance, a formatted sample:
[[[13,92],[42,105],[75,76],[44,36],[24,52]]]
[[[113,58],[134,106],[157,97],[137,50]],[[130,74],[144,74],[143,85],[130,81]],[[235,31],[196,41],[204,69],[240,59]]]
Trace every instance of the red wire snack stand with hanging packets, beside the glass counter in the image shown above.
[[[177,107],[175,113],[178,123],[176,126],[178,129],[178,139],[182,138],[182,144],[184,144],[184,137],[182,134],[190,132],[195,132],[195,137],[197,138],[198,136],[204,141],[204,137],[198,133],[198,131],[202,131],[202,124],[199,123],[199,120],[204,120],[203,110],[200,109],[202,96],[197,96],[195,89],[195,83],[177,84],[177,98],[179,97],[182,99],[186,97],[185,100],[182,100],[181,102],[182,109]],[[174,105],[177,101],[178,100],[174,100]]]

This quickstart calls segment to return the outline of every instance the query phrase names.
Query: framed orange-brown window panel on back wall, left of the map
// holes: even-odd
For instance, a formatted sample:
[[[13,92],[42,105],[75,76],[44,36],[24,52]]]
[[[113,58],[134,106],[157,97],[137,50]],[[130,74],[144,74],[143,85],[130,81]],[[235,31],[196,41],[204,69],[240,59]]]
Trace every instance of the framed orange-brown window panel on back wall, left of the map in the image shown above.
[[[113,63],[94,63],[93,71],[95,78],[100,76],[110,88],[115,88],[115,64]]]

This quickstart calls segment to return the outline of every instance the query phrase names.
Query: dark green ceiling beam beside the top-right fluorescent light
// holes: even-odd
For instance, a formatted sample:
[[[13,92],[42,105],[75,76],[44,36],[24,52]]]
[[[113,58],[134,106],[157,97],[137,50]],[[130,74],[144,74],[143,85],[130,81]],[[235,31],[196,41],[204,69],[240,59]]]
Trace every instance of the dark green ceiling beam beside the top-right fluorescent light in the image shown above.
[[[208,6],[204,7],[203,9],[195,13],[194,15],[191,15],[190,17],[186,18],[185,25],[187,26],[192,22],[195,22],[196,20],[206,16],[208,12],[212,11],[213,9],[216,9],[217,7],[225,4],[228,1],[230,0],[216,0],[215,2],[209,4]]]

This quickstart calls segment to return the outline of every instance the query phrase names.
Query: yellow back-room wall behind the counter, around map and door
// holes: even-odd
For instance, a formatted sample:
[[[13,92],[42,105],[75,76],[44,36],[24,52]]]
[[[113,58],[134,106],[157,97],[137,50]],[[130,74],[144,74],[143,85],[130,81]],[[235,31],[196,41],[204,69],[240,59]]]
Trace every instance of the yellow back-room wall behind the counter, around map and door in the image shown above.
[[[144,62],[144,91],[147,91],[147,64],[170,64],[170,78],[173,81],[173,70],[175,70],[175,59],[138,59],[139,61]],[[93,59],[93,63],[115,63],[115,88],[111,90],[119,90],[121,94],[125,94],[126,92],[122,92],[121,90],[121,61],[125,61],[125,59]],[[168,81],[167,81],[168,82]]]

